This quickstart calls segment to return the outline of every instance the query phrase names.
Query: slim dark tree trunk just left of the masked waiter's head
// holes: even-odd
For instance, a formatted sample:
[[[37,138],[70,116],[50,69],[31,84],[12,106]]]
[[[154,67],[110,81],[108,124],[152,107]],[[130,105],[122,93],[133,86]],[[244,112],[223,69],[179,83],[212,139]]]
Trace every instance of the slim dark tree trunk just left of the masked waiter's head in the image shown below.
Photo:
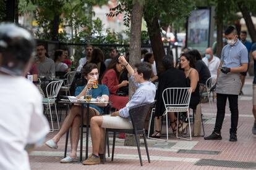
[[[217,26],[217,44],[216,44],[216,56],[221,57],[221,51],[223,48],[223,0],[219,0],[216,7],[216,26]]]

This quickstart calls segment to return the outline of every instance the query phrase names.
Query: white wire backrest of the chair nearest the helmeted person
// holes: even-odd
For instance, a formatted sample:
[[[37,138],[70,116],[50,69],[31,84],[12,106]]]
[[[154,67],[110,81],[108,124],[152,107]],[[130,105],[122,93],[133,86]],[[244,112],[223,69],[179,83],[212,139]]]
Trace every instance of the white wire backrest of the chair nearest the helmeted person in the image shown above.
[[[46,86],[46,95],[48,99],[56,99],[59,89],[61,89],[63,81],[52,81]]]

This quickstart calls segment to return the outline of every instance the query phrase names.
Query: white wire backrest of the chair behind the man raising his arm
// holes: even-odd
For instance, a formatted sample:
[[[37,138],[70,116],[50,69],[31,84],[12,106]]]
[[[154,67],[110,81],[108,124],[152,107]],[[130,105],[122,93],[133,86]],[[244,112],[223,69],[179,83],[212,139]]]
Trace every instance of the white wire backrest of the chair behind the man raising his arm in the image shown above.
[[[190,96],[190,87],[166,88],[162,93],[164,107],[166,110],[170,110],[170,108],[182,108],[186,110],[189,108]],[[170,111],[176,110],[171,109]]]

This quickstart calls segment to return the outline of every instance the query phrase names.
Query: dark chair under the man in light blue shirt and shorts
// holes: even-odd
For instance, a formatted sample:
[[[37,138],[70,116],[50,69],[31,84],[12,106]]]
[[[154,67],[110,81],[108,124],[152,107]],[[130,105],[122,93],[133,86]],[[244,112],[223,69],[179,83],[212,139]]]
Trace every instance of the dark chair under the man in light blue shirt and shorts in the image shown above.
[[[139,142],[140,140],[139,140],[138,135],[143,134],[144,144],[145,144],[147,157],[148,157],[148,163],[150,163],[150,156],[149,156],[149,153],[148,153],[148,145],[147,145],[147,139],[146,139],[146,134],[145,134],[145,129],[144,129],[144,123],[145,123],[145,119],[146,119],[146,116],[148,114],[148,111],[154,106],[154,104],[155,104],[155,102],[144,104],[144,105],[139,105],[139,106],[134,107],[134,108],[130,108],[129,115],[130,115],[130,119],[132,121],[133,129],[109,129],[109,128],[106,128],[105,154],[104,154],[103,163],[105,163],[105,161],[106,161],[105,155],[106,155],[106,143],[108,141],[108,132],[114,132],[111,161],[114,160],[114,147],[115,147],[115,143],[116,143],[116,132],[124,132],[124,133],[127,133],[127,134],[134,134],[135,135],[141,166],[143,166],[143,164],[142,164],[142,156],[141,156],[141,153],[140,153],[140,142]]]

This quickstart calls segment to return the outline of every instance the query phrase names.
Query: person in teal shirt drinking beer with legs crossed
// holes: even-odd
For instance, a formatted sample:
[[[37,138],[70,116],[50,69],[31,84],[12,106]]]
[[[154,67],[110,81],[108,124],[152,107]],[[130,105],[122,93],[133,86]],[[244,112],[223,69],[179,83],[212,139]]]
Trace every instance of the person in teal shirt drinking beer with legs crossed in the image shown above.
[[[82,70],[83,78],[87,79],[86,86],[79,86],[75,89],[75,96],[77,99],[84,96],[88,88],[92,88],[95,84],[95,80],[98,79],[98,67],[94,63],[88,63]],[[92,98],[102,97],[105,101],[108,101],[109,91],[108,87],[104,84],[98,84],[97,88],[92,89]],[[103,113],[103,110],[100,107],[104,107],[104,104],[90,105],[90,117],[95,115],[100,115]],[[84,113],[87,113],[87,108],[84,108]],[[80,127],[80,115],[81,115],[81,106],[80,104],[75,104],[69,111],[64,123],[62,124],[61,129],[58,134],[53,137],[53,139],[48,140],[45,144],[50,148],[58,148],[58,142],[61,137],[69,131],[71,127],[71,152],[69,156],[63,158],[61,163],[72,163],[77,161],[77,145],[79,142],[79,127]],[[84,116],[84,120],[86,116]]]

